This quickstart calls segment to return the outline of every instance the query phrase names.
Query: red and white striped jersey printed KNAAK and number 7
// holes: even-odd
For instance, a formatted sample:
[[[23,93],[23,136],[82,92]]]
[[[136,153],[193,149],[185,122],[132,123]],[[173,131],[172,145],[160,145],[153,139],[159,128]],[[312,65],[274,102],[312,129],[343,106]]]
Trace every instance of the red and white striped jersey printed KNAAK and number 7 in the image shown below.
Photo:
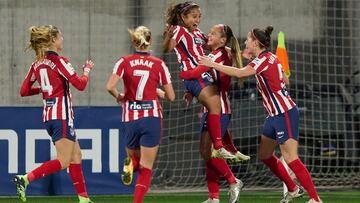
[[[113,74],[124,80],[124,122],[144,117],[162,118],[156,88],[159,84],[171,83],[170,72],[164,61],[148,53],[135,52],[121,57],[114,66]]]

